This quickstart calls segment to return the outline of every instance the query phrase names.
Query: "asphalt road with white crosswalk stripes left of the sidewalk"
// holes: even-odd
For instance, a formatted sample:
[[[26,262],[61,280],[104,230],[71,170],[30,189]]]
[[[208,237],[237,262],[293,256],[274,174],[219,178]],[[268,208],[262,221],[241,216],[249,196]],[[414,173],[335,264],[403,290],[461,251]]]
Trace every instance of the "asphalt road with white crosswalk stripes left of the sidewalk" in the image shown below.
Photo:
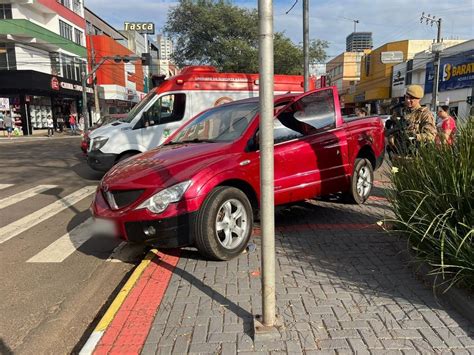
[[[0,353],[75,353],[144,248],[94,235],[78,137],[0,138]]]

